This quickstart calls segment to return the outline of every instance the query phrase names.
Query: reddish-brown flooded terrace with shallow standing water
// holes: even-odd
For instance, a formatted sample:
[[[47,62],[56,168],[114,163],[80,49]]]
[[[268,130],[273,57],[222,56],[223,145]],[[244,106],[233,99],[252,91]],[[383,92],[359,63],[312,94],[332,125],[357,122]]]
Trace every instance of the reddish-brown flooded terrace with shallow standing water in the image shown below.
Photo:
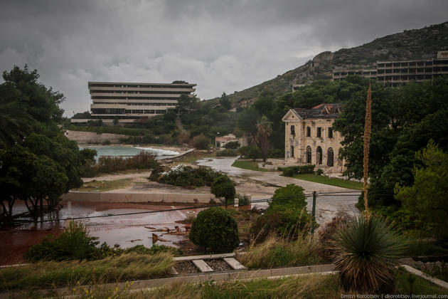
[[[142,211],[159,211],[186,206],[161,206],[149,204],[110,204],[63,203],[58,213],[47,215],[45,219],[68,219],[70,217],[101,216],[99,218],[81,219],[90,236],[98,237],[100,243],[110,246],[118,244],[122,248],[135,245],[151,247],[153,234],[159,238],[159,245],[176,246],[176,242],[188,238],[185,224],[176,221],[185,220],[189,214],[195,215],[201,209],[191,206],[191,209],[181,211],[164,211],[151,214],[112,216]],[[15,206],[16,212],[25,211],[24,206]],[[50,218],[51,217],[51,218]],[[57,227],[59,226],[59,228]],[[0,231],[0,265],[23,262],[23,253],[43,238],[49,235],[57,236],[63,230],[65,221],[51,221],[43,224],[26,224],[9,231]]]

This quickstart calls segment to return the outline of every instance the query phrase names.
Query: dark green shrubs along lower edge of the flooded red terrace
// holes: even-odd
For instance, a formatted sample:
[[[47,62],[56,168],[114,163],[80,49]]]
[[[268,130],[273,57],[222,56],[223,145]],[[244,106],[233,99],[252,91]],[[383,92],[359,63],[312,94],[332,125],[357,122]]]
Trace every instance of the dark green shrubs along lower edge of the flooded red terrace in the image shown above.
[[[53,239],[53,240],[52,240]],[[42,243],[33,245],[26,251],[24,258],[28,262],[36,261],[66,261],[66,260],[97,260],[107,256],[120,256],[123,253],[156,254],[161,252],[181,256],[182,251],[164,245],[154,244],[151,248],[137,245],[123,249],[111,247],[107,243],[98,245],[97,237],[87,234],[84,226],[70,221],[68,228],[60,236],[45,238]]]

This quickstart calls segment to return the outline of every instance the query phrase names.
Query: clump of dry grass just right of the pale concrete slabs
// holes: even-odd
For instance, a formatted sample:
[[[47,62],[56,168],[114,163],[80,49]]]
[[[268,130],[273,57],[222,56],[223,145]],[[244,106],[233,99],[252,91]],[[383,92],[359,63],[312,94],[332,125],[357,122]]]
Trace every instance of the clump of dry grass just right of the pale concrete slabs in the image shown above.
[[[263,243],[252,243],[244,254],[238,254],[240,263],[247,268],[313,265],[324,261],[317,254],[318,244],[312,236],[297,240],[269,236]]]

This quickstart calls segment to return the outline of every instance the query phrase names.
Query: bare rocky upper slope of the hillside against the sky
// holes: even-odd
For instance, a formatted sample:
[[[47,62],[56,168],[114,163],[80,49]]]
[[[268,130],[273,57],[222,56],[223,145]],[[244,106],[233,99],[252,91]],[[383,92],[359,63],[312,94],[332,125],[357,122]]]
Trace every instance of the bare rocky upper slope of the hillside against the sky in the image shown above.
[[[448,22],[420,29],[405,30],[376,38],[362,46],[320,53],[298,68],[277,78],[228,95],[234,107],[250,105],[264,90],[275,96],[292,90],[294,84],[331,79],[334,68],[374,68],[376,61],[430,59],[437,51],[448,50]],[[214,98],[211,100],[218,100]]]

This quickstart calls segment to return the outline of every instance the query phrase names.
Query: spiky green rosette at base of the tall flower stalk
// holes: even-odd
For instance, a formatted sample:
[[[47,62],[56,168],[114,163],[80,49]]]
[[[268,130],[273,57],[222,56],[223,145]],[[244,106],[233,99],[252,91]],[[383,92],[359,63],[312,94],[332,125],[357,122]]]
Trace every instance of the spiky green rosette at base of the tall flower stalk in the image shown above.
[[[334,238],[334,264],[345,290],[383,292],[393,287],[393,267],[405,241],[390,222],[358,217]]]

